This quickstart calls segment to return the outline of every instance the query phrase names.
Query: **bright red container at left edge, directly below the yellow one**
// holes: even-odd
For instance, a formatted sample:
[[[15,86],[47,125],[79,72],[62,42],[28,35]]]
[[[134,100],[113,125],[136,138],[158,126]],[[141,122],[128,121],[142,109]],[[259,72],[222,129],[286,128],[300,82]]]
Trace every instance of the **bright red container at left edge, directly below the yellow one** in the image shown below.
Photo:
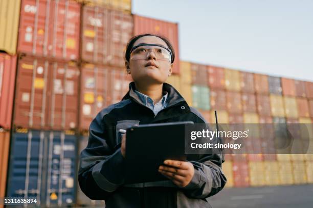
[[[0,127],[11,128],[16,56],[0,53]]]

